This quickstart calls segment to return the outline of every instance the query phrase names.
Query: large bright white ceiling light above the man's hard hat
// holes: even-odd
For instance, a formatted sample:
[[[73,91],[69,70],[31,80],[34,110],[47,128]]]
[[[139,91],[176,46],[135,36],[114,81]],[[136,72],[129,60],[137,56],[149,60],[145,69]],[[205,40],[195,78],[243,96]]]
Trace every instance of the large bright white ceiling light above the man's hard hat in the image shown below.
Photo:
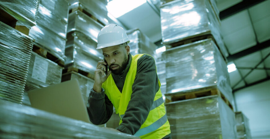
[[[146,0],[112,0],[107,4],[107,10],[115,17],[118,18],[125,13],[141,6]]]

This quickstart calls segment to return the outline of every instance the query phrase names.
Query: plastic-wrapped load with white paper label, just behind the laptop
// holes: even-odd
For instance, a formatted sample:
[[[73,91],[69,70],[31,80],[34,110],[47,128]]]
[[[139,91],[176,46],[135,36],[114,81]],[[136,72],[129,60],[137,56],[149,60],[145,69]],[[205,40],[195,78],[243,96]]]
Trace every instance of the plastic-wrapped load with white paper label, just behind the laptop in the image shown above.
[[[23,104],[30,106],[28,91],[61,83],[62,70],[63,68],[53,61],[32,52]]]

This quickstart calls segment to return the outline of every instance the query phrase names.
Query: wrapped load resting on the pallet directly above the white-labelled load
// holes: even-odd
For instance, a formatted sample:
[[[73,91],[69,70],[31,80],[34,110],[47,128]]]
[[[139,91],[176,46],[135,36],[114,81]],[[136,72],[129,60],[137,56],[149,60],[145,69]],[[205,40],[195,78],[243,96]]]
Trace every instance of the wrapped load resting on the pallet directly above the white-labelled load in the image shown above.
[[[61,61],[65,61],[66,40],[62,36],[39,24],[30,29],[29,36],[35,40],[35,45],[47,50]]]

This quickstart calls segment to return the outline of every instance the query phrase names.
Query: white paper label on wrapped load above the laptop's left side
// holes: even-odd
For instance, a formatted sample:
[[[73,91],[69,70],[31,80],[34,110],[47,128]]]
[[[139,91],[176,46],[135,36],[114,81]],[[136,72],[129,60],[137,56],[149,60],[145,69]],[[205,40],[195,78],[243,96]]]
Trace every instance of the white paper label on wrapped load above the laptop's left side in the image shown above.
[[[32,72],[32,78],[40,82],[46,83],[48,65],[48,61],[36,56]]]

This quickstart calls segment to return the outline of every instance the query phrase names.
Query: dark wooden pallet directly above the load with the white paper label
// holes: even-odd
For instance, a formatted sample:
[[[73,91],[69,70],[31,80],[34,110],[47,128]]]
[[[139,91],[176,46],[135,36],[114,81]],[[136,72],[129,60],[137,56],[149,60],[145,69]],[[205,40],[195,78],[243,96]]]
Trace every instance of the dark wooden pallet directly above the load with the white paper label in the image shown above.
[[[59,66],[61,67],[65,67],[65,61],[62,61],[61,59],[55,57],[54,55],[52,55],[51,53],[49,53],[47,50],[38,47],[37,45],[34,44],[33,49],[32,49],[35,53],[37,53],[38,55],[47,58],[55,63],[57,63]]]

